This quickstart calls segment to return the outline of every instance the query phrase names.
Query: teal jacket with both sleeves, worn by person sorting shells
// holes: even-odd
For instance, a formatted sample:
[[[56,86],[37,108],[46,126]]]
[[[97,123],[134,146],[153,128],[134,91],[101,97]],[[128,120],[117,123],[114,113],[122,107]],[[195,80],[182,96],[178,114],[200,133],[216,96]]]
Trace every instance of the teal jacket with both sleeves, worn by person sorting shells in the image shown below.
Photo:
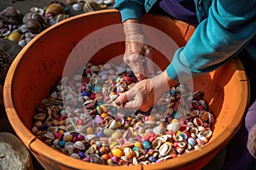
[[[142,19],[156,0],[116,0],[122,20]],[[256,77],[256,0],[195,0],[199,20],[189,42],[178,48],[166,71],[172,80],[213,71],[247,49]],[[252,41],[253,40],[253,41]],[[242,57],[242,56],[241,56]]]

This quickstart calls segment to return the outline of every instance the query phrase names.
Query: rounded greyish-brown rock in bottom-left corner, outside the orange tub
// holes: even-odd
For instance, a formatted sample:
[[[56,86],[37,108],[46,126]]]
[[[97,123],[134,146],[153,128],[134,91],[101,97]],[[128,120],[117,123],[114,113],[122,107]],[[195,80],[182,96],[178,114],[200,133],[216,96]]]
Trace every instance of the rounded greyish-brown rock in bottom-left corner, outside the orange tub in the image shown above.
[[[12,133],[0,133],[0,169],[33,169],[29,151],[20,139]]]

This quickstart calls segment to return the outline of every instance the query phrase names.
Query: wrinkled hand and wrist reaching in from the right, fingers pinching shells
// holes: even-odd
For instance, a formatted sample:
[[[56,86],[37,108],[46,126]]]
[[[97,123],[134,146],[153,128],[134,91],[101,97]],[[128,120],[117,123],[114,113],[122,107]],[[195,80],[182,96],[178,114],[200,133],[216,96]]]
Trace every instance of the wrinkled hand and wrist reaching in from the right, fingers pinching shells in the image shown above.
[[[115,100],[116,105],[122,105],[125,109],[148,111],[154,103],[170,90],[177,82],[172,81],[166,71],[160,75],[145,79],[123,94],[119,94]]]

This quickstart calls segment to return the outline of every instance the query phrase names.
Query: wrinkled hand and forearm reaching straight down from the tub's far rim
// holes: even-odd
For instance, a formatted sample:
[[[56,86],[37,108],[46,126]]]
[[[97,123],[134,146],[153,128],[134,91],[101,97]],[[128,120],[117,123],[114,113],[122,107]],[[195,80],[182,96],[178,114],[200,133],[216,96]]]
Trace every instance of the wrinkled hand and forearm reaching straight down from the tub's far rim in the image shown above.
[[[153,48],[147,45],[148,38],[143,34],[138,20],[126,20],[124,62],[139,81],[149,77],[156,71],[152,62]]]

